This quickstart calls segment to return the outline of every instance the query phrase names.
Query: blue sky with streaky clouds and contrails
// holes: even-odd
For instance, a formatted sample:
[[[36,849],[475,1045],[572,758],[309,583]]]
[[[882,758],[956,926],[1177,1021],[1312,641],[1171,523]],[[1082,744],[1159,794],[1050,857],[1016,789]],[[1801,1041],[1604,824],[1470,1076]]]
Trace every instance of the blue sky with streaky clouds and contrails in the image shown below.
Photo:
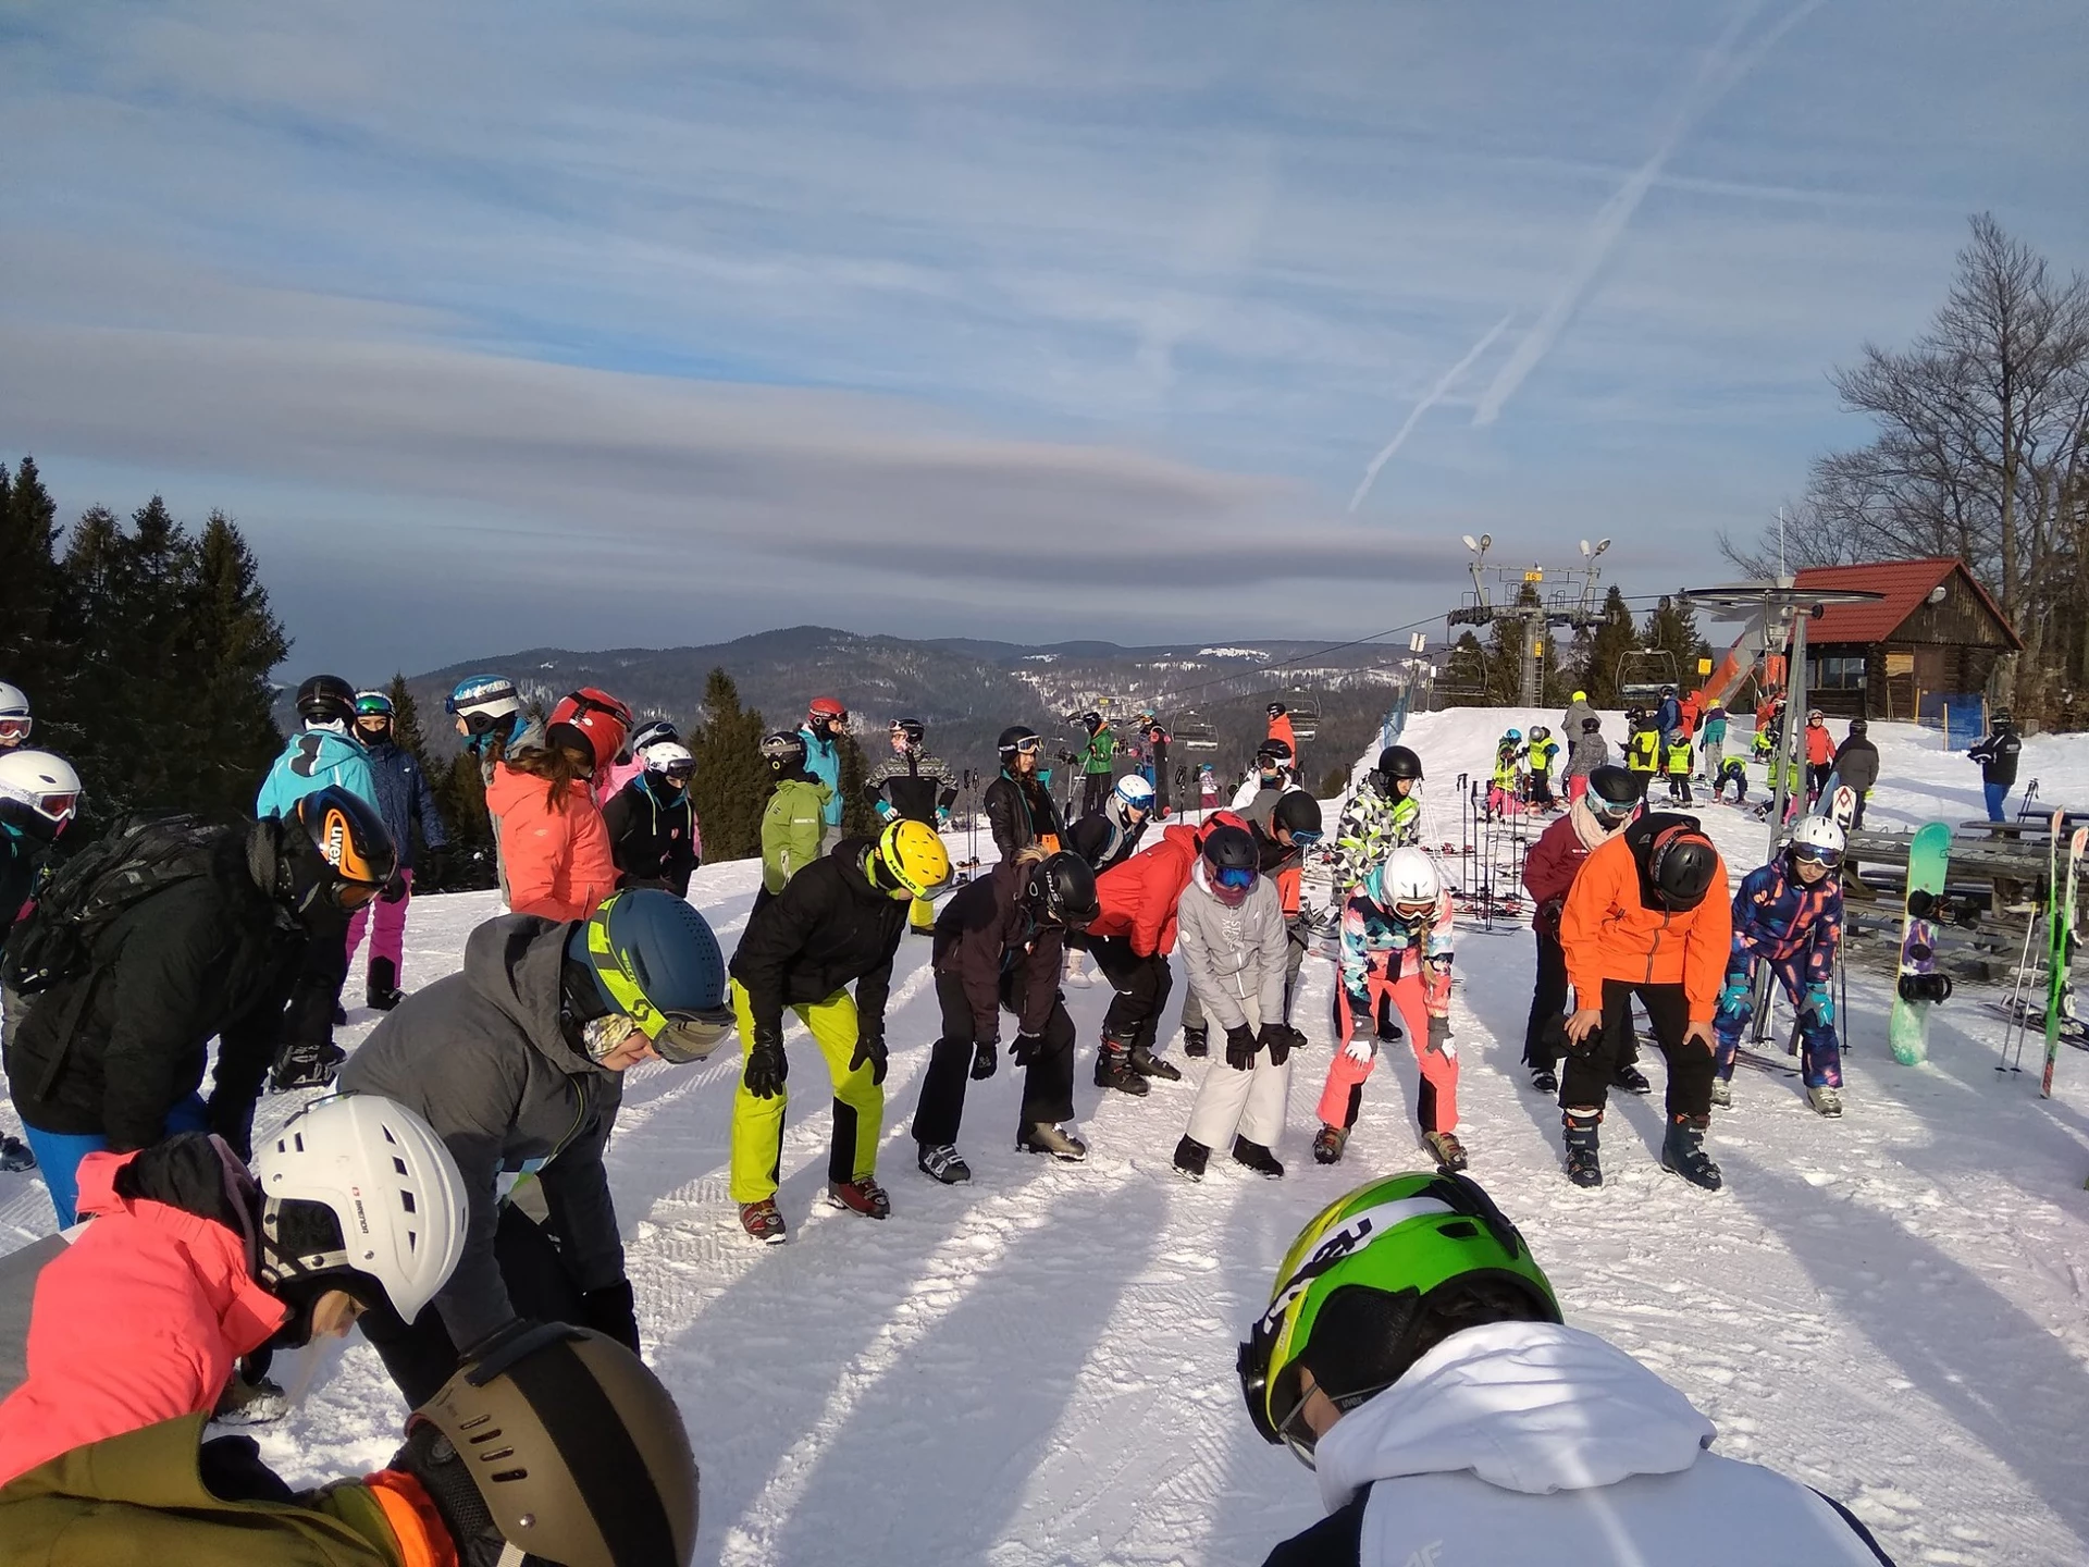
[[[1335,639],[1481,529],[1661,591],[1865,437],[1826,372],[1968,213],[2089,259],[2085,61],[2079,0],[29,4],[0,449],[224,506],[355,677]]]

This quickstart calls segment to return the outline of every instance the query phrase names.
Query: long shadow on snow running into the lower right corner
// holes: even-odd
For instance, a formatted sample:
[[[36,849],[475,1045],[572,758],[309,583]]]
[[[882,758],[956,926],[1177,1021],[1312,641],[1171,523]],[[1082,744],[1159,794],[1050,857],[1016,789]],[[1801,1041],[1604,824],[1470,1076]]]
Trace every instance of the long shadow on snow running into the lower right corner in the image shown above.
[[[2066,1346],[1980,1274],[1861,1203],[1838,1203],[1834,1226],[1782,1222],[1820,1208],[1820,1193],[1759,1160],[1734,1164],[1746,1166],[1732,1185],[1740,1203],[1790,1247],[1847,1320],[2089,1546],[2089,1486],[2041,1483],[2053,1454],[2079,1450],[2081,1410],[2089,1408],[2089,1373]],[[1880,1308],[1851,1295],[1851,1258],[1876,1258],[1874,1270],[1888,1277],[1920,1270],[1932,1283],[1920,1302],[1888,1291],[1891,1304]],[[1997,1341],[2010,1343],[2008,1362],[2020,1366],[2003,1385],[1995,1381]]]

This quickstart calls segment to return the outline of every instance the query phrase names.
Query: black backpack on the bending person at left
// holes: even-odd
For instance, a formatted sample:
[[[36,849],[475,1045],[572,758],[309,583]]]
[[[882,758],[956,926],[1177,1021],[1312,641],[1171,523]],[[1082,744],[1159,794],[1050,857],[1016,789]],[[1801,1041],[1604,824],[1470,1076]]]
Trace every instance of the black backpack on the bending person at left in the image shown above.
[[[109,834],[58,867],[36,909],[15,926],[0,984],[42,995],[92,967],[94,940],[136,903],[175,882],[209,875],[226,827],[192,815],[119,817]]]

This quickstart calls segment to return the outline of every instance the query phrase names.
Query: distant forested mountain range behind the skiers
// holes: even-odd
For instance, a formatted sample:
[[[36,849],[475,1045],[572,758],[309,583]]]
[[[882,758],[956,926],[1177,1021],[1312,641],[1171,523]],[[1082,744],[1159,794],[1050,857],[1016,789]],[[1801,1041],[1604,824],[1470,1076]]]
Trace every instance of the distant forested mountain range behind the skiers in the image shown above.
[[[702,721],[704,679],[725,669],[742,706],[758,708],[771,727],[796,727],[815,696],[834,696],[848,706],[871,754],[892,719],[915,717],[950,767],[986,775],[994,767],[994,738],[1011,723],[1028,723],[1047,744],[1072,748],[1078,729],[1070,719],[1090,708],[1126,731],[1147,708],[1172,727],[1210,727],[1216,750],[1178,746],[1174,763],[1212,763],[1222,777],[1237,775],[1266,733],[1264,708],[1274,698],[1320,710],[1318,735],[1299,744],[1306,771],[1318,781],[1331,767],[1347,767],[1377,735],[1402,656],[1383,646],[1329,654],[1320,648],[1312,641],[1034,648],[790,627],[702,648],[526,648],[432,669],[407,679],[407,687],[430,742],[447,748],[455,742],[443,723],[443,698],[464,675],[497,671],[541,704],[579,685],[600,685],[643,717],[689,725]]]

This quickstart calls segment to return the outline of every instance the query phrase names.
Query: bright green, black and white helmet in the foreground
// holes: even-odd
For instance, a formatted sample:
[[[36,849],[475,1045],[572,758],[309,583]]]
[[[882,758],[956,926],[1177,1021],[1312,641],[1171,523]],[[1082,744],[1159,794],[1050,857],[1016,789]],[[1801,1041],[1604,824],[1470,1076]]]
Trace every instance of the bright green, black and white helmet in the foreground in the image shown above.
[[[1285,1254],[1241,1343],[1241,1394],[1264,1442],[1312,1463],[1299,1369],[1339,1410],[1385,1391],[1462,1327],[1558,1323],[1523,1235],[1464,1174],[1395,1174],[1322,1208]]]

